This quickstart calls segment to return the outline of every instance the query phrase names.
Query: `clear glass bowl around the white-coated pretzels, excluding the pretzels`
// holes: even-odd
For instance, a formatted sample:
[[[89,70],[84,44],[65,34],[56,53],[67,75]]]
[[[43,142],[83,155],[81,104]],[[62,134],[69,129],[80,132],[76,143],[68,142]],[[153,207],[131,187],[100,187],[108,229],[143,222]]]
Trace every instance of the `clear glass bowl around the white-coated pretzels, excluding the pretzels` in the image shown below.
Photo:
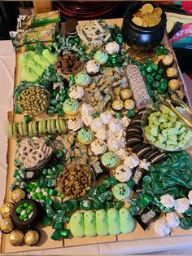
[[[31,139],[33,140],[33,138],[36,138],[36,140],[40,142],[42,142],[41,140],[44,139],[44,145],[46,144],[47,146],[49,146],[51,149],[52,149],[52,152],[50,153],[50,155],[44,159],[42,159],[41,161],[39,161],[38,165],[37,166],[33,166],[33,167],[26,167],[24,166],[24,163],[22,163],[18,157],[18,151],[20,149],[20,143],[22,143],[22,141],[24,141],[24,139]],[[31,137],[26,137],[26,138],[23,138],[23,139],[20,139],[20,143],[17,147],[17,151],[16,151],[16,159],[17,159],[17,162],[18,164],[20,164],[20,167],[24,170],[40,170],[41,168],[43,168],[44,166],[46,166],[47,162],[50,161],[50,158],[52,157],[53,153],[55,152],[55,146],[54,146],[54,143],[52,143],[52,141],[46,137],[46,136],[40,136],[40,135],[33,135]],[[42,142],[43,143],[43,142]]]

